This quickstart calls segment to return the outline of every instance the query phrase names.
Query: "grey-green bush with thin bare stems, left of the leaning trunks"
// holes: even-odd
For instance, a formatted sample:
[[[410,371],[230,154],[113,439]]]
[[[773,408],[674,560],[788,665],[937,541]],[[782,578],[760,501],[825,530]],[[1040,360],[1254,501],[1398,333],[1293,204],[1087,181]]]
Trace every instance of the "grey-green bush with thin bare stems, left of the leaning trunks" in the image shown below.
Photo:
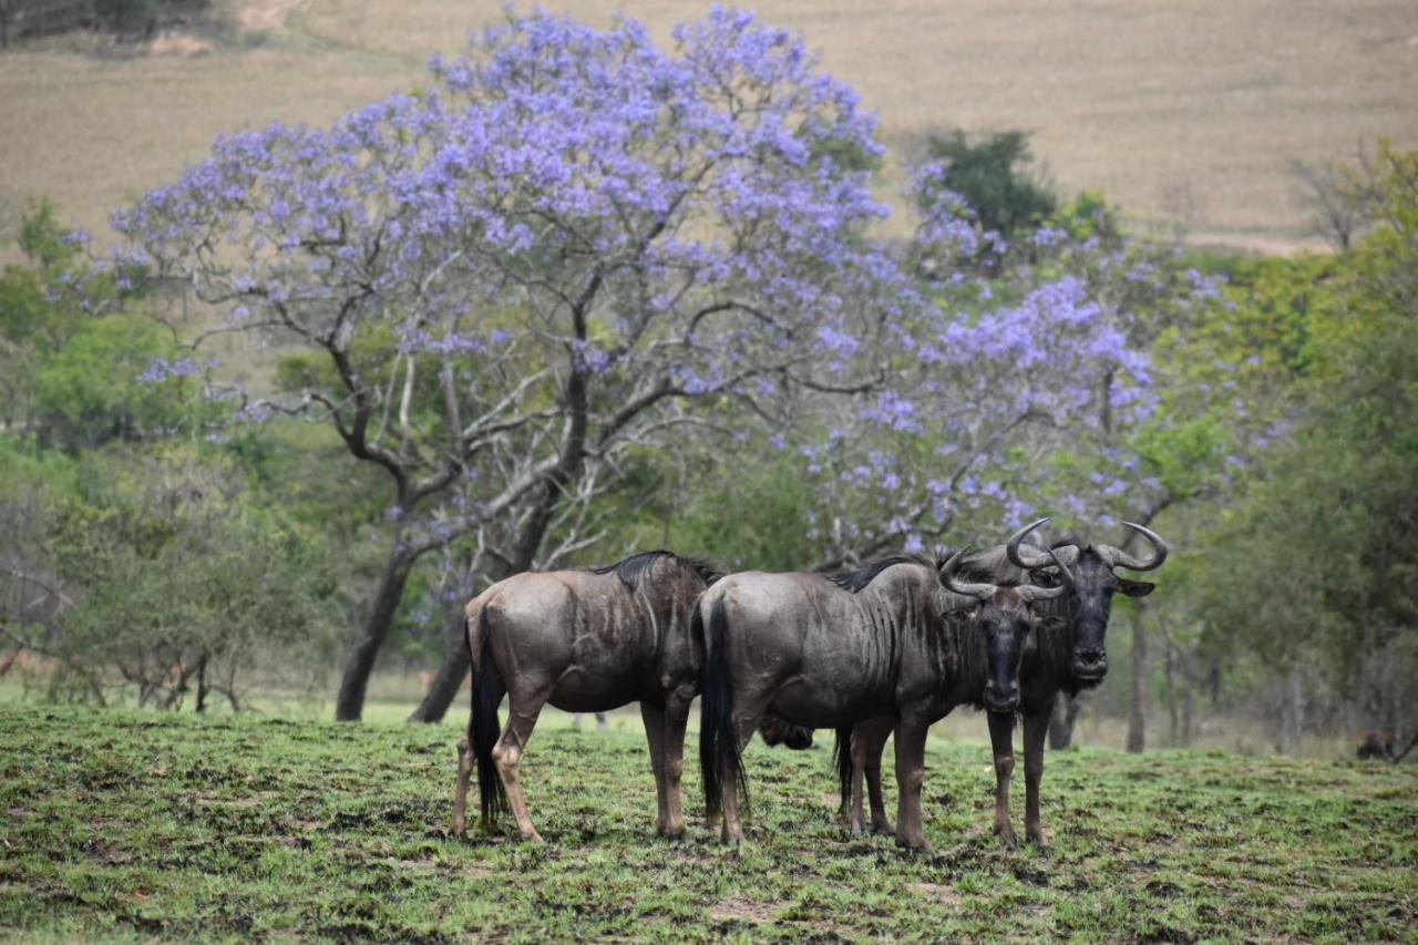
[[[328,553],[252,504],[231,458],[111,448],[86,453],[71,480],[24,536],[43,541],[65,589],[47,629],[20,637],[61,660],[52,694],[104,701],[135,687],[140,704],[179,708],[189,691],[235,705],[258,668],[309,682],[340,623]]]

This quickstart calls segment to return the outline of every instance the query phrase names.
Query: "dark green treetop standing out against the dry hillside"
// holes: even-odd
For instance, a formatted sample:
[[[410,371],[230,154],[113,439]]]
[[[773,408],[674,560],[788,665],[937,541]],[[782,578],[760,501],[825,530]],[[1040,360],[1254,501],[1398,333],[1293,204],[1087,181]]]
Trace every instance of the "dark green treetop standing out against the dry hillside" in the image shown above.
[[[944,186],[964,197],[986,231],[1005,240],[1032,230],[1058,207],[1058,197],[1031,170],[1029,136],[1022,131],[976,139],[963,131],[933,135],[927,159],[946,167]]]

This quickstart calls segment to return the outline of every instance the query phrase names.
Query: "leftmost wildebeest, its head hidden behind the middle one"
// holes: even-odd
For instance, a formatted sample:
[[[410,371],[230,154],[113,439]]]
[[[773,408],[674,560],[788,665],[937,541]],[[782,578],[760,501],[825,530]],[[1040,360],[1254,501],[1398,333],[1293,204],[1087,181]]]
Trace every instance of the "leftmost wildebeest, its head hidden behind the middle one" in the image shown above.
[[[659,802],[655,829],[682,836],[685,722],[703,665],[689,624],[695,600],[719,576],[702,560],[655,551],[610,568],[515,575],[474,597],[472,712],[458,742],[454,831],[467,827],[476,763],[484,824],[510,807],[522,837],[540,841],[518,769],[542,707],[604,712],[638,701]],[[503,694],[509,717],[499,729]],[[781,722],[774,735],[788,746],[813,744],[810,731]]]

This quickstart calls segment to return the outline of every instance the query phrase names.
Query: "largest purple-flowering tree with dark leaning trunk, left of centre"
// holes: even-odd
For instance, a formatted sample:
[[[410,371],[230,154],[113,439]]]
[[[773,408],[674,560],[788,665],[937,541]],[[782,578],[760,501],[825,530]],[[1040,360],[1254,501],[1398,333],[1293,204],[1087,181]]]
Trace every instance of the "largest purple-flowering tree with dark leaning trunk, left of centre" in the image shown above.
[[[116,214],[130,261],[275,342],[279,389],[241,393],[245,417],[328,423],[387,474],[337,718],[424,555],[469,536],[491,576],[549,563],[628,453],[879,380],[866,301],[899,270],[862,236],[878,153],[855,95],[749,14],[662,51],[536,13],[417,95],[218,139]]]

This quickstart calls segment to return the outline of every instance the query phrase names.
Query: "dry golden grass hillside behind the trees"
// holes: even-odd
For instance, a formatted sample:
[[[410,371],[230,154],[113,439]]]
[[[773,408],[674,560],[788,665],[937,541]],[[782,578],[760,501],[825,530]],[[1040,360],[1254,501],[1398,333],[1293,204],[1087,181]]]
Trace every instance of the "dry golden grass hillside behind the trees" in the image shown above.
[[[257,44],[102,58],[54,44],[0,55],[0,200],[55,199],[102,234],[108,211],[176,175],[221,131],[325,122],[420,81],[495,1],[254,0]],[[703,3],[550,1],[659,35]],[[1072,192],[1140,217],[1183,213],[1218,240],[1283,247],[1303,231],[1286,172],[1361,140],[1418,145],[1412,0],[763,0],[882,119],[899,172],[926,132],[1024,128]]]

